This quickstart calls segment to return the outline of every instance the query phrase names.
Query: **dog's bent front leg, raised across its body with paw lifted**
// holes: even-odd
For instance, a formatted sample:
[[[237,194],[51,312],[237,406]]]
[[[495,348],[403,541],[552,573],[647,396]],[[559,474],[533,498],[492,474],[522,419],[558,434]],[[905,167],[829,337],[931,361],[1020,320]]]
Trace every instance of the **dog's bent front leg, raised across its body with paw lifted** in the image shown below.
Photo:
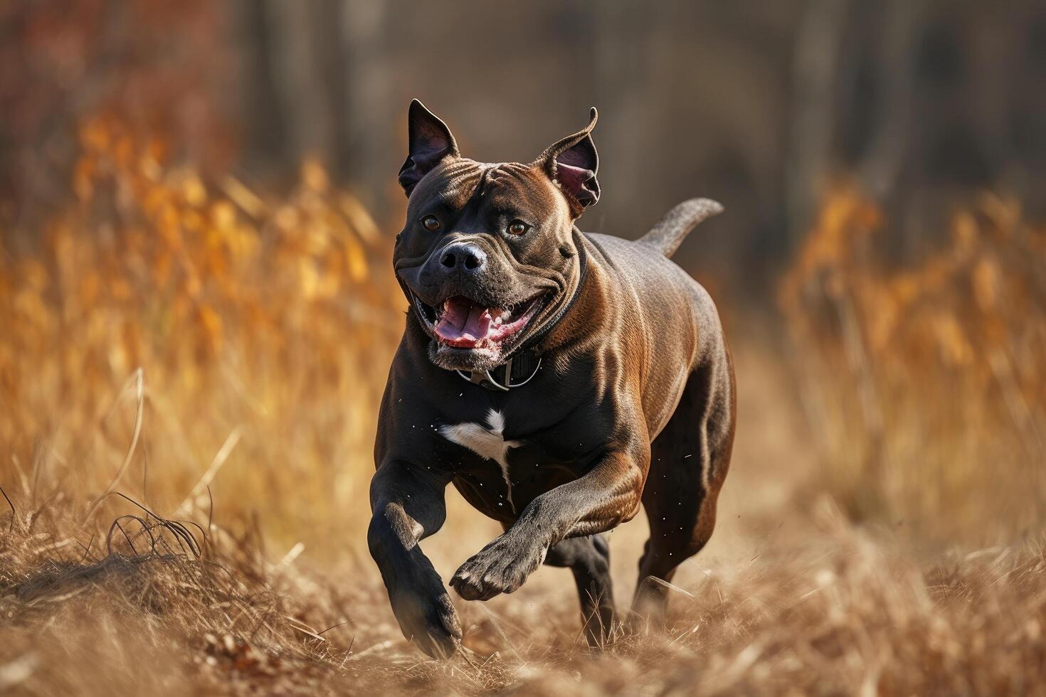
[[[561,539],[594,535],[631,520],[639,510],[649,464],[649,446],[615,450],[584,477],[541,494],[511,528],[461,564],[451,585],[465,600],[511,593]]]

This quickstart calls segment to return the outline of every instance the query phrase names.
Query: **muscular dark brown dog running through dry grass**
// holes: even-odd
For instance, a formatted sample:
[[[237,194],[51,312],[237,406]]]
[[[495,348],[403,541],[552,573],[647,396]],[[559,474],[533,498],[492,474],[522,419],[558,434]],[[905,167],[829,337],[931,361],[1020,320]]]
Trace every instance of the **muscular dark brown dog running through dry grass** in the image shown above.
[[[637,241],[581,232],[599,198],[588,126],[530,164],[461,157],[410,106],[409,196],[396,278],[411,305],[382,400],[367,533],[400,627],[449,656],[461,626],[418,541],[444,492],[504,534],[450,584],[465,600],[513,593],[542,563],[569,567],[589,642],[614,622],[599,533],[640,503],[651,537],[633,604],[660,615],[661,584],[708,541],[730,462],[733,367],[715,305],[668,260],[719,204],[691,200]]]

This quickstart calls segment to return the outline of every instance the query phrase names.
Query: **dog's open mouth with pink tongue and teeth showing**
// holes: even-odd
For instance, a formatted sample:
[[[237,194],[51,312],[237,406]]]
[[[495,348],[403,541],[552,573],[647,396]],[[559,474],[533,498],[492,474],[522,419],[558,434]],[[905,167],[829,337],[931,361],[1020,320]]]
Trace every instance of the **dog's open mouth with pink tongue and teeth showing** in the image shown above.
[[[417,296],[414,296],[414,303],[440,344],[462,349],[494,349],[501,348],[506,340],[529,324],[541,307],[542,298],[535,296],[508,307],[484,307],[464,296],[448,298],[437,307],[425,304]]]

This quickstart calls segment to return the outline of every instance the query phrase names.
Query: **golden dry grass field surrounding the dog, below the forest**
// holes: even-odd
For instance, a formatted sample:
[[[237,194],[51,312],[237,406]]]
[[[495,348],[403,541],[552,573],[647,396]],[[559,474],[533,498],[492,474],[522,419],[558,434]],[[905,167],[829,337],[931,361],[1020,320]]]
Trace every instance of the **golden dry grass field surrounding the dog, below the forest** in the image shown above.
[[[777,306],[720,298],[740,428],[669,626],[590,652],[542,568],[459,601],[445,664],[364,541],[387,231],[314,164],[262,195],[79,137],[75,203],[0,235],[0,693],[1046,694],[1046,231],[1014,204],[897,268],[829,192]],[[449,578],[497,532],[452,494],[425,548]],[[611,536],[622,609],[644,539]]]

